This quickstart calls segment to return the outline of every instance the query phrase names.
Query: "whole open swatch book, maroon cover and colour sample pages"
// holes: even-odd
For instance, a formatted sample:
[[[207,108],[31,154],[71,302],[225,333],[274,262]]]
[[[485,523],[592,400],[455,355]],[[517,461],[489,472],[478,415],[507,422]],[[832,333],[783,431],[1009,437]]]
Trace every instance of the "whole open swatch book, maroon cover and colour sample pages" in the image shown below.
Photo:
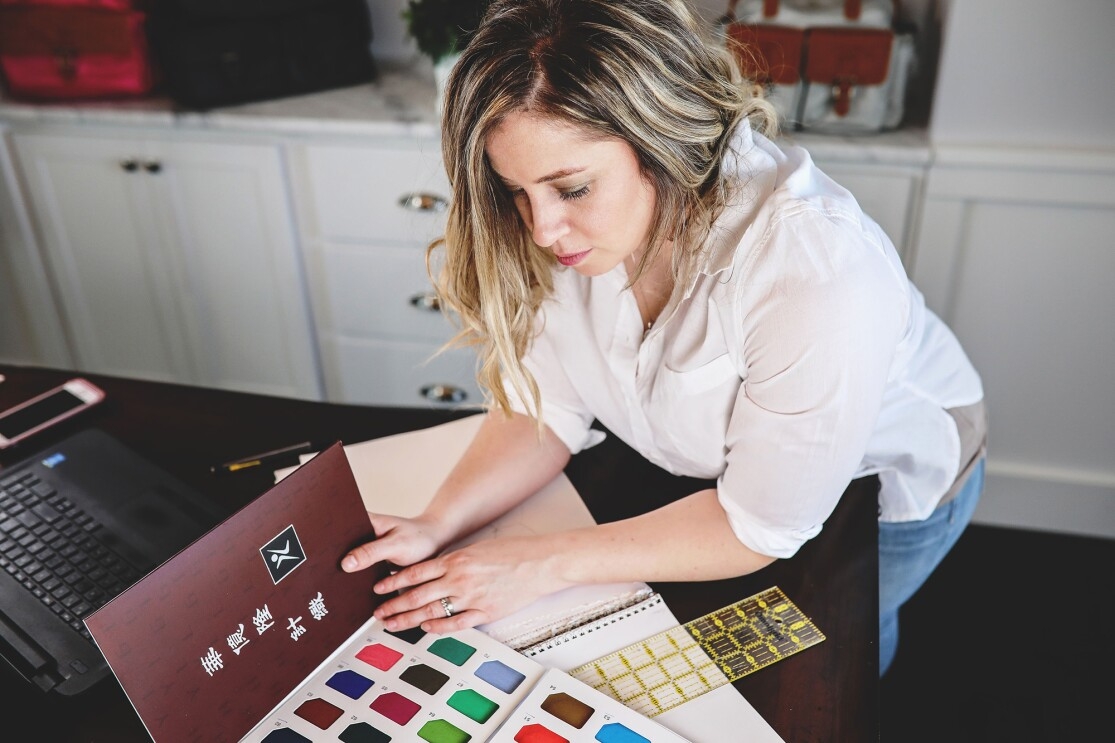
[[[388,633],[334,444],[86,619],[157,743],[685,743],[477,629]]]

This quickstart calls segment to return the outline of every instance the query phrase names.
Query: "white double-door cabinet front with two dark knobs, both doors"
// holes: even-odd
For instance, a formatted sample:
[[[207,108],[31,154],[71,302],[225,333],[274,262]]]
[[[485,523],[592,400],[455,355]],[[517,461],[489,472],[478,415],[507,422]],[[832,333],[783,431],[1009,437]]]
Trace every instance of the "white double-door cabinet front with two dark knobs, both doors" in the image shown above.
[[[279,147],[90,127],[11,141],[78,368],[321,396]]]

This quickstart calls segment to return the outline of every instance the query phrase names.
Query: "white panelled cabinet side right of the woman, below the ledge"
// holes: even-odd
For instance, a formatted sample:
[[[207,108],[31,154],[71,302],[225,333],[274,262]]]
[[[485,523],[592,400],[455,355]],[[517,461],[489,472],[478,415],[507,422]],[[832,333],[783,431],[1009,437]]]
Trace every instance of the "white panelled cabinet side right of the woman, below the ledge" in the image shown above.
[[[1115,156],[941,147],[913,278],[983,378],[979,521],[1115,537]]]

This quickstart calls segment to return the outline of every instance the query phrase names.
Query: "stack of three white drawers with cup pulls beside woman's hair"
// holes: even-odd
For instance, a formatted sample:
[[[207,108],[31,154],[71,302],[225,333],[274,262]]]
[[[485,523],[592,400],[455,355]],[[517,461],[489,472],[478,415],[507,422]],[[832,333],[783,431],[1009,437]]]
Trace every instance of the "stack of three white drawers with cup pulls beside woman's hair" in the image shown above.
[[[481,403],[475,355],[437,353],[453,335],[426,271],[449,191],[437,141],[307,144],[293,161],[327,397]]]

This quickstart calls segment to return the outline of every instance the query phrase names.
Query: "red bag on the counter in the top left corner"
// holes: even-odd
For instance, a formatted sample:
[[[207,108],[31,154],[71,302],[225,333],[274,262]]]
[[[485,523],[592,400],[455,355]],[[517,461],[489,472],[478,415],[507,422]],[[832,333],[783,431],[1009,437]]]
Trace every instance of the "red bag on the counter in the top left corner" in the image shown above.
[[[135,0],[0,0],[0,73],[17,98],[143,96],[155,87]]]

